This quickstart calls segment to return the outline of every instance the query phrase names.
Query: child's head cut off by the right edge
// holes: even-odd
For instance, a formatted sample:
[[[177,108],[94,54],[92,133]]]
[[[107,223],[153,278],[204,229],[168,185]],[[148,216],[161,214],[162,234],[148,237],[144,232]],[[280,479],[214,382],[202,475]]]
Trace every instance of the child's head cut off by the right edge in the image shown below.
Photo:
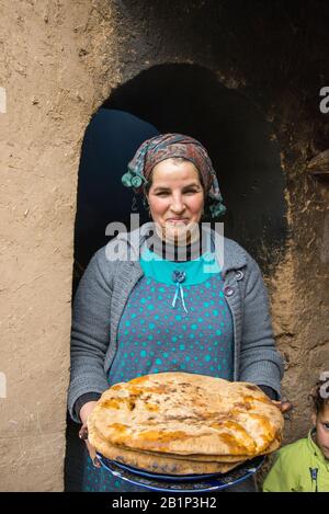
[[[329,460],[329,376],[320,379],[311,392],[314,403],[313,424],[316,429],[316,443]]]

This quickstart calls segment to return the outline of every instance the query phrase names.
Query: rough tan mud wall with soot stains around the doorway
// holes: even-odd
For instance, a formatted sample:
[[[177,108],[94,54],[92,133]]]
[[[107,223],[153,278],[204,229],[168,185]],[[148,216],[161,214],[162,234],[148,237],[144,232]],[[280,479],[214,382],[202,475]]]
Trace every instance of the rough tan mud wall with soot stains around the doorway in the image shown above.
[[[287,235],[263,272],[296,406],[285,437],[306,433],[307,393],[329,369],[329,189],[306,169],[329,140],[322,4],[0,0],[1,491],[64,488],[80,145],[111,92],[160,64],[208,68],[272,124]]]

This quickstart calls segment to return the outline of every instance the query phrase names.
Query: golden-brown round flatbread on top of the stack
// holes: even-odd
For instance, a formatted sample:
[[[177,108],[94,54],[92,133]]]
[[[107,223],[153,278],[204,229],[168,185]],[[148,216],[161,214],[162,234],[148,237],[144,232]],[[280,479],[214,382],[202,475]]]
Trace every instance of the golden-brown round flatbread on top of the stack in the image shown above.
[[[174,458],[240,461],[276,449],[283,416],[252,384],[169,372],[112,386],[89,416],[88,429],[95,447],[101,438]]]

